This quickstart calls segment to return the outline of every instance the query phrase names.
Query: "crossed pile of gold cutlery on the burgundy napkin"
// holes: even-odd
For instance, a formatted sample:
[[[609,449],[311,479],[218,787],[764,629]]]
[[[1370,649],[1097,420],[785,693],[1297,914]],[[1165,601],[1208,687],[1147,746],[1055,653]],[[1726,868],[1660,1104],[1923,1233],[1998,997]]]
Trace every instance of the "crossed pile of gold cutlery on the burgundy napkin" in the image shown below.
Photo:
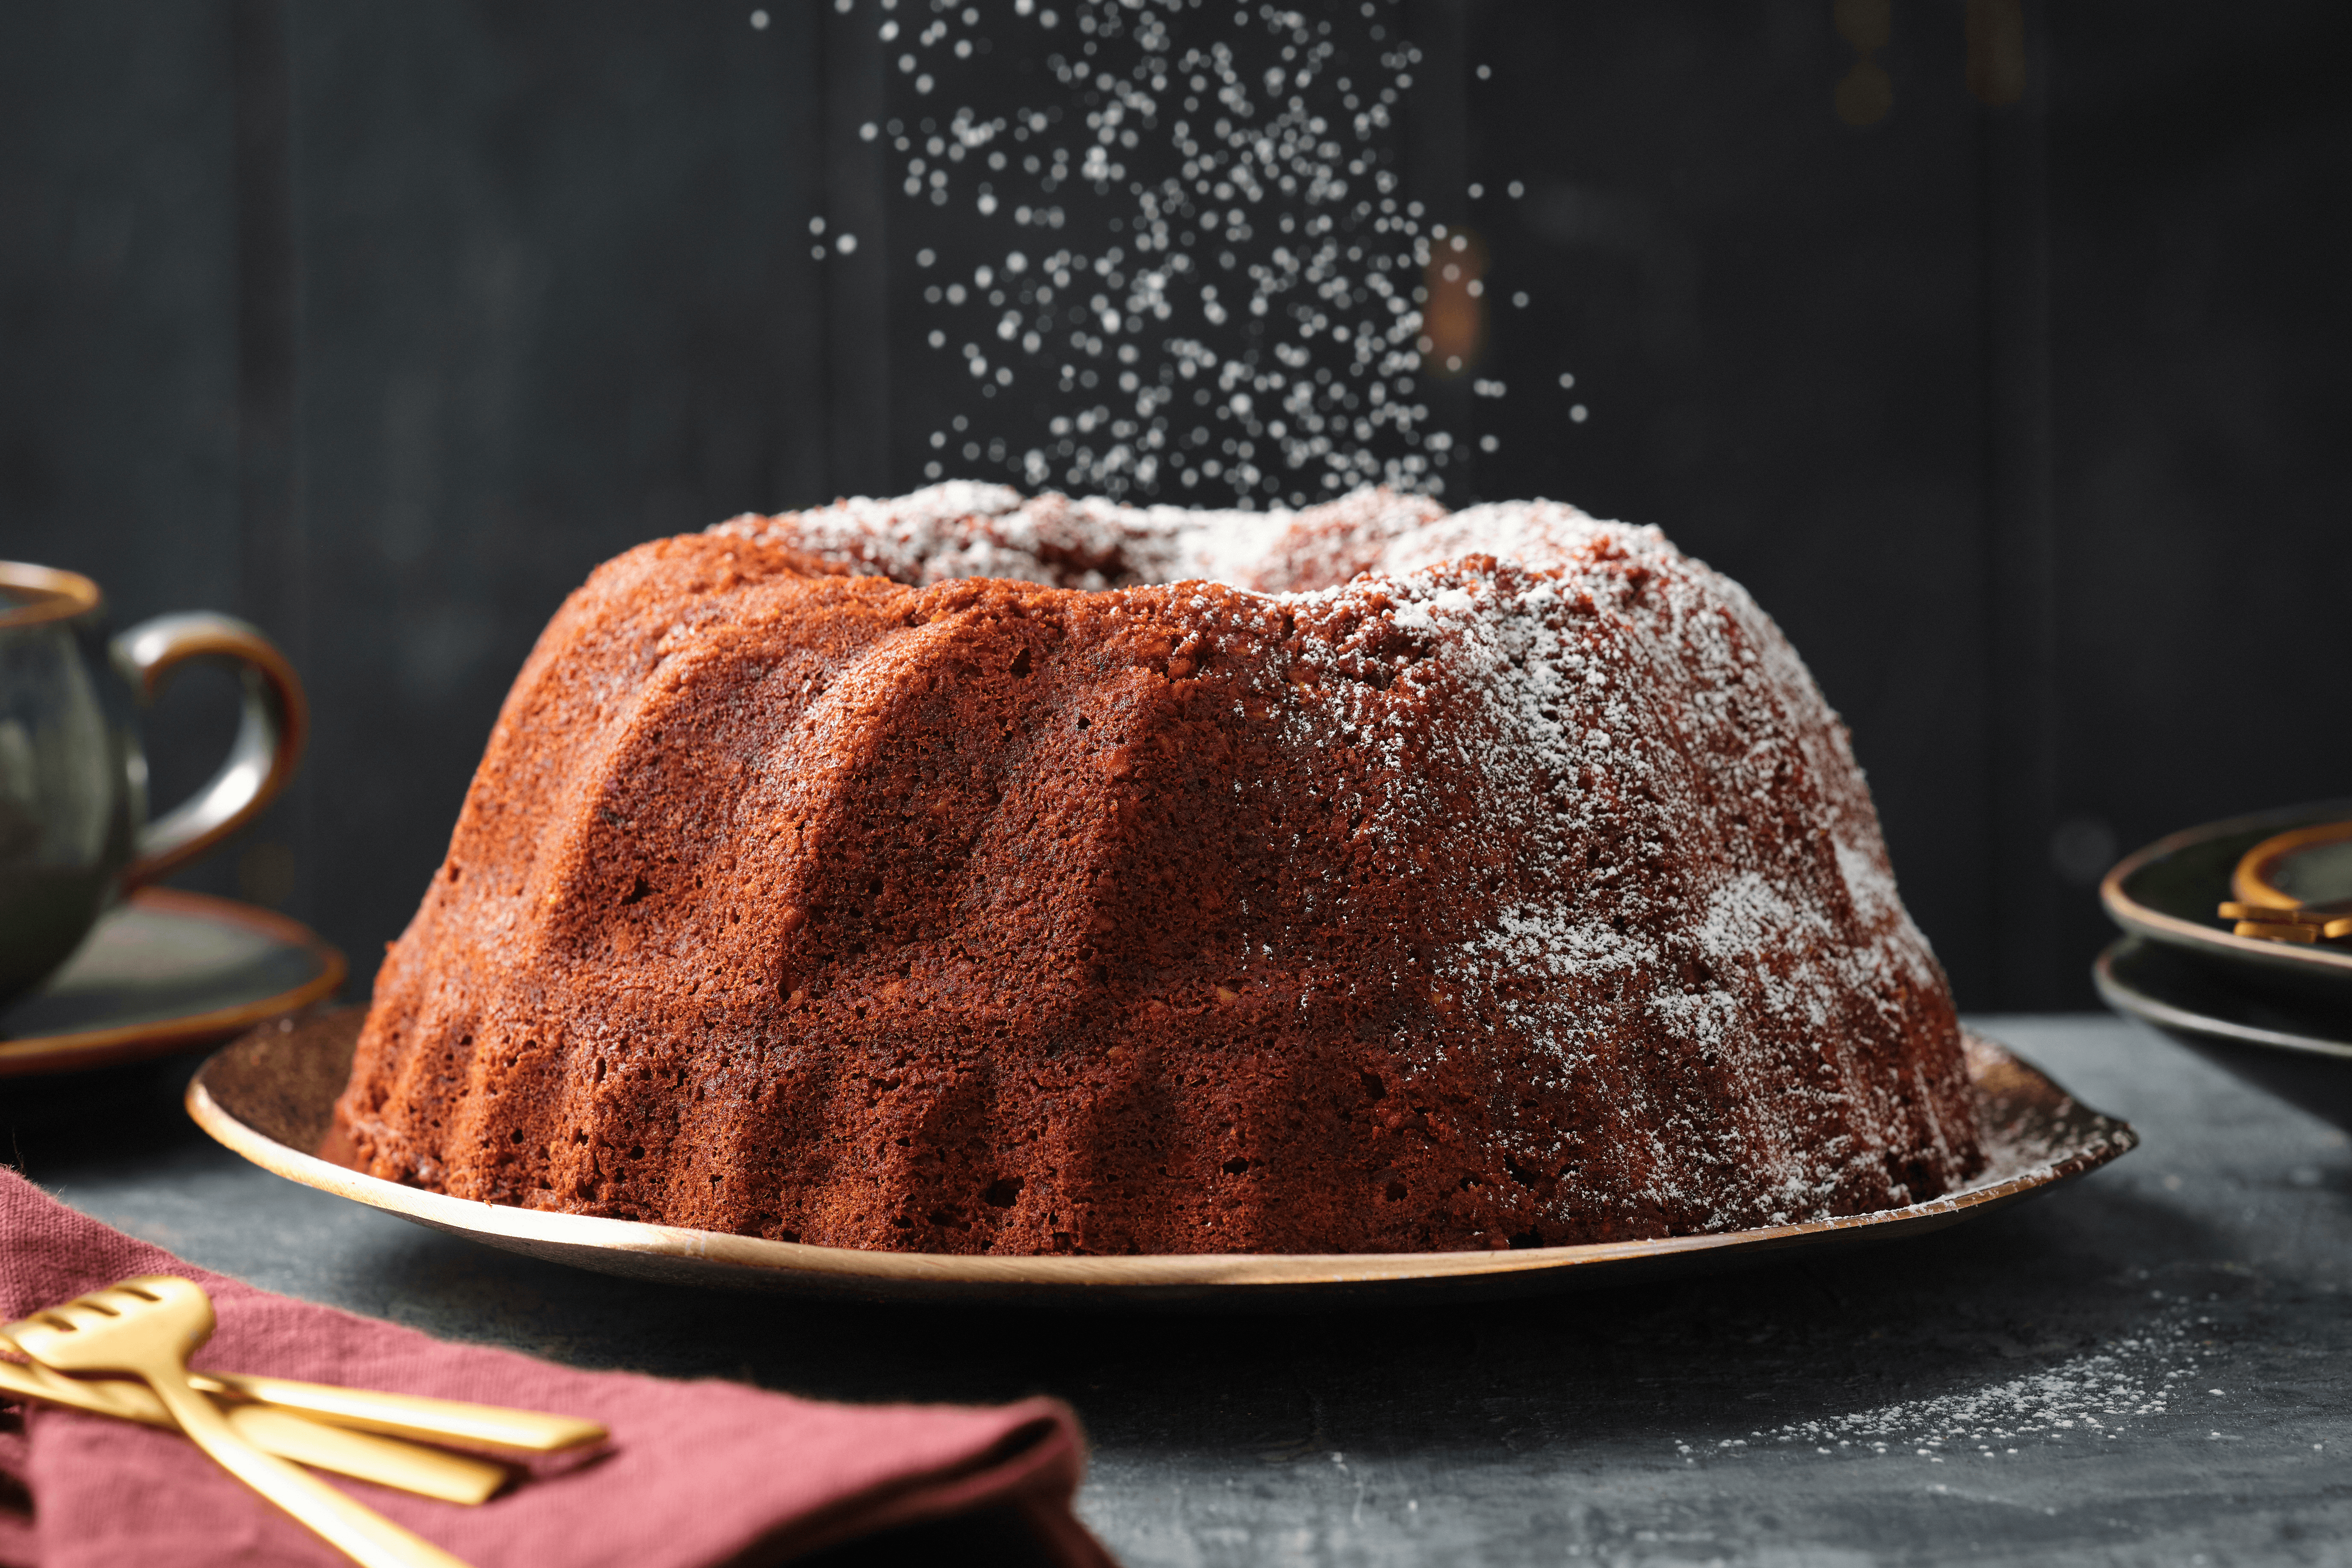
[[[212,1338],[212,1300],[193,1281],[141,1274],[0,1326],[0,1396],[40,1399],[179,1429],[223,1469],[367,1568],[466,1568],[353,1502],[308,1469],[397,1486],[440,1502],[487,1502],[506,1465],[428,1443],[557,1453],[604,1439],[569,1415],[381,1394],[325,1382],[191,1373]],[[9,1361],[14,1349],[26,1361]]]

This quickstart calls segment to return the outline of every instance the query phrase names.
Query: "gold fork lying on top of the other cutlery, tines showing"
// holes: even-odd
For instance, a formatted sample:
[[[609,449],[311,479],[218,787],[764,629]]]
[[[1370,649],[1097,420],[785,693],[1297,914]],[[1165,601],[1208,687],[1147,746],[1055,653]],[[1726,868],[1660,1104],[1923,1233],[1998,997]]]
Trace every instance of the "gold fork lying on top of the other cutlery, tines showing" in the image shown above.
[[[209,1399],[188,1387],[188,1356],[212,1338],[212,1300],[186,1279],[141,1274],[64,1307],[35,1312],[7,1333],[59,1373],[132,1373],[221,1469],[282,1507],[365,1568],[466,1568],[433,1542],[362,1507],[318,1476],[238,1436]]]

